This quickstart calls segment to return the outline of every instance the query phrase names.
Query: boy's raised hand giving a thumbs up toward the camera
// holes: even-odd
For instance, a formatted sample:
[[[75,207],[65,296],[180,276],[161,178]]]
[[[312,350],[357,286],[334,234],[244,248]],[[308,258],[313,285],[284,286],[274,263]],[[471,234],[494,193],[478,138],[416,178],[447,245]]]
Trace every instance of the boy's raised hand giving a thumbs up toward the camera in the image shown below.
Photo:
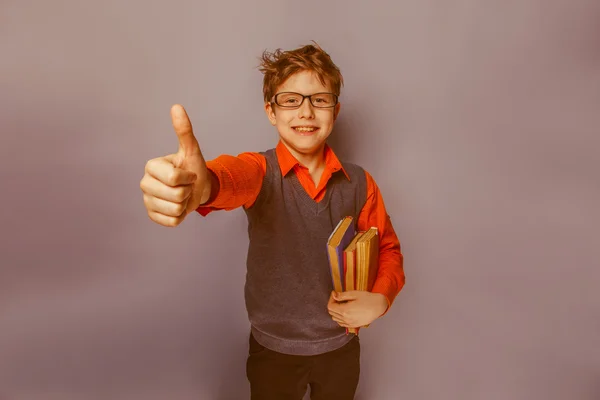
[[[211,195],[211,176],[194,136],[192,123],[180,105],[171,108],[179,138],[177,153],[146,163],[140,188],[150,219],[163,226],[178,226]]]

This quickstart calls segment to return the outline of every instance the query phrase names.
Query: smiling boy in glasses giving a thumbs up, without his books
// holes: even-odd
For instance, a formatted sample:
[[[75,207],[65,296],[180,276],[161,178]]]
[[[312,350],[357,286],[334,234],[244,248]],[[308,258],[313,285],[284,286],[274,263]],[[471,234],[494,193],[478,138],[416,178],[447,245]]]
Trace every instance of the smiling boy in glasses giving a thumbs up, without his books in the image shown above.
[[[346,328],[384,315],[404,286],[403,256],[383,199],[361,167],[326,144],[343,78],[318,46],[263,53],[265,112],[274,149],[205,162],[183,107],[171,118],[179,151],[150,160],[140,182],[151,220],[177,226],[192,212],[243,207],[250,244],[245,300],[251,323],[246,371],[252,399],[353,399],[358,336]],[[332,291],[326,242],[352,216],[376,226],[379,271],[371,292]]]

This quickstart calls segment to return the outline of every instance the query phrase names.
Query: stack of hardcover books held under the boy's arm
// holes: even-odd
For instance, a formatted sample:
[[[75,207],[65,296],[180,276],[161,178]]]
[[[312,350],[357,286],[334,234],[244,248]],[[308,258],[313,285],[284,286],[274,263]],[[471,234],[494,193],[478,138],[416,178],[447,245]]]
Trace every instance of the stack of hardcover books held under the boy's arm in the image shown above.
[[[357,232],[352,217],[342,218],[327,240],[327,256],[336,292],[371,291],[379,265],[377,228]],[[347,331],[358,334],[355,328]]]

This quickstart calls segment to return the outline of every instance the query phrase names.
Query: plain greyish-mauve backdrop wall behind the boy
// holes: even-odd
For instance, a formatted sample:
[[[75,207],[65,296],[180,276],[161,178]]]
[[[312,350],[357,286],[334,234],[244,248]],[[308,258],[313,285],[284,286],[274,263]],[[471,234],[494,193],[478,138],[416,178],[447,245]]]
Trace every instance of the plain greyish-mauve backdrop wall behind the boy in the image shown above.
[[[600,3],[0,3],[0,399],[243,399],[241,210],[146,216],[188,109],[275,145],[264,49],[346,79],[332,145],[381,187],[407,285],[359,399],[600,398]]]

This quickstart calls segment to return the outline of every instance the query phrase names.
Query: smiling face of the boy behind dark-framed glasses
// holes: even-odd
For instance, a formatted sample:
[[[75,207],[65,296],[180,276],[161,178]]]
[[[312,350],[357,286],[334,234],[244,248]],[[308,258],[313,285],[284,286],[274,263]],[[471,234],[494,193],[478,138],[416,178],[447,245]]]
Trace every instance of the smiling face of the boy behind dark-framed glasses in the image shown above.
[[[311,71],[301,71],[290,76],[275,92],[295,92],[302,95],[330,93],[317,75]],[[269,121],[279,131],[279,136],[292,154],[311,156],[318,154],[331,134],[340,104],[331,108],[318,108],[305,98],[298,108],[284,108],[277,104],[265,104]]]

